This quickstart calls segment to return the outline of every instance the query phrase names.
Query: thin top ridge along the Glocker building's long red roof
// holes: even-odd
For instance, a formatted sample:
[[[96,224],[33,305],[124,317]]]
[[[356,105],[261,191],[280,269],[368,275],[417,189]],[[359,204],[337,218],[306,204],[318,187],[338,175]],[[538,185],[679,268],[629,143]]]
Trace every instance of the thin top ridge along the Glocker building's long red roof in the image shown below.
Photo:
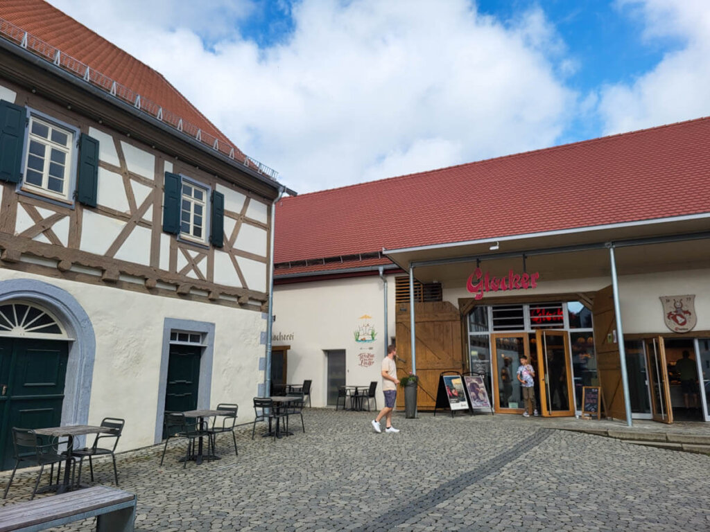
[[[550,153],[550,152],[557,152],[557,151],[562,151],[562,150],[569,150],[572,148],[577,148],[579,145],[593,145],[593,144],[598,144],[598,143],[606,143],[606,142],[609,142],[609,141],[619,138],[619,137],[639,135],[639,134],[643,134],[643,133],[649,133],[650,131],[656,131],[656,130],[660,130],[660,129],[664,129],[664,128],[673,128],[673,127],[683,126],[685,124],[706,121],[709,119],[710,119],[710,116],[701,116],[699,118],[691,118],[689,120],[666,123],[666,124],[661,124],[659,126],[651,126],[650,128],[637,129],[637,130],[633,130],[633,131],[623,131],[622,133],[612,133],[610,135],[603,135],[601,137],[590,138],[587,140],[575,140],[572,143],[560,144],[557,146],[549,146],[547,148],[537,148],[537,150],[528,150],[526,152],[520,152],[520,153],[510,153],[508,155],[499,155],[498,157],[489,157],[488,159],[481,159],[481,160],[471,161],[471,162],[461,162],[458,165],[440,167],[440,168],[435,168],[433,170],[422,170],[422,172],[412,172],[410,174],[401,174],[401,175],[392,176],[392,177],[383,177],[381,179],[373,179],[372,181],[343,185],[342,187],[334,187],[332,189],[316,190],[314,192],[306,192],[305,194],[299,194],[298,196],[286,196],[283,199],[290,200],[290,199],[295,199],[295,197],[304,198],[304,197],[308,197],[308,196],[313,196],[315,194],[324,194],[325,192],[334,192],[336,190],[364,187],[366,185],[371,185],[371,184],[386,182],[386,181],[393,181],[395,179],[405,179],[407,177],[414,177],[414,176],[422,175],[422,174],[448,172],[449,170],[453,170],[454,168],[481,165],[481,164],[484,164],[485,162],[491,162],[491,161],[497,161],[497,160],[507,160],[507,159],[518,158],[518,157],[528,157],[530,155],[535,155],[535,154],[541,153],[541,152]]]

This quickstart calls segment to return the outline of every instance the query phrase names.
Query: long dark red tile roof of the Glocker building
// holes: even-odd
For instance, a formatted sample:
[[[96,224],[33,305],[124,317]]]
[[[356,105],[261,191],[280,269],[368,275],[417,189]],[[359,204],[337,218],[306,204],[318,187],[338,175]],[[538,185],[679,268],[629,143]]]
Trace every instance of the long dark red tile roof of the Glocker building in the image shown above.
[[[710,212],[710,118],[285,197],[275,262]]]

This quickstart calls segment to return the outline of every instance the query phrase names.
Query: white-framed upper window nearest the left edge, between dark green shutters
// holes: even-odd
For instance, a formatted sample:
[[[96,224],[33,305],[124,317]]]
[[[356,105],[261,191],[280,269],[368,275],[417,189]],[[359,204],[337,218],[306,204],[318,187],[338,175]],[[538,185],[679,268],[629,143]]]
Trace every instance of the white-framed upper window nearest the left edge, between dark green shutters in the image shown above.
[[[31,113],[28,123],[22,189],[72,201],[77,131]]]

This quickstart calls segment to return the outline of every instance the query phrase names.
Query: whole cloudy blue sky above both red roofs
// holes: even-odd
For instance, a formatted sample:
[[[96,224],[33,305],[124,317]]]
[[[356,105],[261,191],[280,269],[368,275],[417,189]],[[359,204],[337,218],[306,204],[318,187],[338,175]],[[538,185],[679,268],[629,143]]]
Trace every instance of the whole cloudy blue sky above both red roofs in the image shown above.
[[[50,0],[297,192],[710,115],[708,0]]]

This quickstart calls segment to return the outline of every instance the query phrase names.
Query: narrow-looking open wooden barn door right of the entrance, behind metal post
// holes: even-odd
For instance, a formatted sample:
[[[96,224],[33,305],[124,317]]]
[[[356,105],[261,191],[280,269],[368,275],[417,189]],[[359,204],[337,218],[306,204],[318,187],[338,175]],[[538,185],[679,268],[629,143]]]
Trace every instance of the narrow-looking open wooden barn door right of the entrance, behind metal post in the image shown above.
[[[606,416],[626,421],[626,406],[621,381],[621,358],[616,336],[616,312],[614,311],[611,284],[596,292],[592,308],[594,321],[594,348],[601,394],[606,404]]]

